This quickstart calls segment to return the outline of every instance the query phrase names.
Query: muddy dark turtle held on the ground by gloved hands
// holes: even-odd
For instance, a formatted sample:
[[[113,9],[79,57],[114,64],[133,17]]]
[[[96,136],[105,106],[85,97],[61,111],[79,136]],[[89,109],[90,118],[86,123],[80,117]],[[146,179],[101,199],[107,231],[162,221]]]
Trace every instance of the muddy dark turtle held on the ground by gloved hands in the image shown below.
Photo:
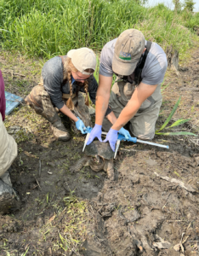
[[[84,156],[77,161],[74,166],[70,167],[70,171],[78,172],[82,166],[90,166],[94,172],[104,170],[110,180],[114,180],[114,152],[109,143],[100,143],[94,141],[85,148]]]

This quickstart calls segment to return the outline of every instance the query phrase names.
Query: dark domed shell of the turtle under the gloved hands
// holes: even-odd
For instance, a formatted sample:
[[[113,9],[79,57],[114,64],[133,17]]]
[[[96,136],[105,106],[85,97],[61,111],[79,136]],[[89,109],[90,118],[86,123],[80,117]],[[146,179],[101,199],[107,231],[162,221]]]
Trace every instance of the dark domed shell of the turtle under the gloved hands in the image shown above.
[[[114,152],[112,151],[109,143],[100,143],[99,141],[95,141],[86,146],[85,154],[88,156],[98,154],[100,157],[107,160],[111,160],[114,157]]]

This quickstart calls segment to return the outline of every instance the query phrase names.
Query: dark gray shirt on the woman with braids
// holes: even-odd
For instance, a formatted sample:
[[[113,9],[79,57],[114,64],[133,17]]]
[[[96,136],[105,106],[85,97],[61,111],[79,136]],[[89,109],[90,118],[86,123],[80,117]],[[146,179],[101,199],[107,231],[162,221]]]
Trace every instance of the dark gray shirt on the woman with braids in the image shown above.
[[[63,65],[61,58],[56,56],[48,60],[42,69],[43,86],[50,96],[51,102],[54,107],[63,108],[65,102],[62,100],[62,93],[70,94],[70,85],[67,81],[63,83]],[[98,89],[98,83],[94,79],[94,76],[90,76],[88,79],[88,94],[91,101],[95,104],[96,92]],[[72,84],[72,93],[77,91],[77,82]],[[79,91],[85,92],[83,86],[79,86]]]

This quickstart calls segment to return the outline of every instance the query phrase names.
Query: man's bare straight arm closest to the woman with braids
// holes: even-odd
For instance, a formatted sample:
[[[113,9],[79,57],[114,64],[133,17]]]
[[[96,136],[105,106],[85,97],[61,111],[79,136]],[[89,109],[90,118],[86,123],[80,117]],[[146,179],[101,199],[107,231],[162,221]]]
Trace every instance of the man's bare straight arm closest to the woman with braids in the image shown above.
[[[95,124],[102,125],[105,112],[108,108],[111,93],[112,77],[99,74],[99,88],[97,90],[95,105]]]

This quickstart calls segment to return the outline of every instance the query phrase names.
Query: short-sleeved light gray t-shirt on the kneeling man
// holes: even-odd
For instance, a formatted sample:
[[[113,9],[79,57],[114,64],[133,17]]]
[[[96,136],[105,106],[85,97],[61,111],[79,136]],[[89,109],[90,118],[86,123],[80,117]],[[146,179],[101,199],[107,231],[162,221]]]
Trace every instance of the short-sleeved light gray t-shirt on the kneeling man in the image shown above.
[[[112,59],[116,42],[117,38],[105,44],[101,51],[99,74],[105,77],[111,77],[113,75]],[[141,73],[142,82],[150,85],[161,84],[167,67],[167,56],[163,49],[160,45],[152,43]]]

